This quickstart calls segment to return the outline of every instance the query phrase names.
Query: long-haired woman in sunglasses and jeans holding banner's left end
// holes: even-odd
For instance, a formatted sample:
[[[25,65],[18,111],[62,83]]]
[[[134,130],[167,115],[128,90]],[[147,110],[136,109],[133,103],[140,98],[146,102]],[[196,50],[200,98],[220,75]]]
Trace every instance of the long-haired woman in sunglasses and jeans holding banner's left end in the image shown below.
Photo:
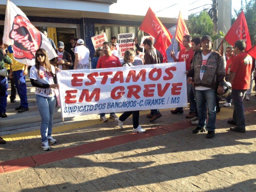
[[[59,96],[59,85],[54,83],[55,69],[49,62],[47,52],[44,49],[36,51],[36,64],[30,69],[30,81],[36,87],[36,105],[41,116],[41,139],[44,151],[50,150],[50,144],[57,142],[52,137],[52,119],[56,106],[56,98]]]

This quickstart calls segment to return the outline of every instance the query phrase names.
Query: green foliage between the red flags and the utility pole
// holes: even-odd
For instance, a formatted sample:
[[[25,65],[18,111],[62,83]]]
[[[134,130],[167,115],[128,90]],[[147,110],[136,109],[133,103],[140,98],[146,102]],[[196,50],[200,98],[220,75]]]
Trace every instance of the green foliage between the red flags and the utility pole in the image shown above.
[[[208,12],[200,12],[199,15],[189,15],[186,22],[187,29],[190,34],[195,36],[212,35],[213,34],[213,21]],[[193,38],[193,35],[191,35]]]

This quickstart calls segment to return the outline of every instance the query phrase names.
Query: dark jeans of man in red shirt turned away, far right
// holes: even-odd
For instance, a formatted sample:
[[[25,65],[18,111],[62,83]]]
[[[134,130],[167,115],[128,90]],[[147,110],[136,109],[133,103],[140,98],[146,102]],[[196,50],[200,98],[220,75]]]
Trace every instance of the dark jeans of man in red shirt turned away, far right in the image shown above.
[[[231,95],[234,104],[233,121],[237,123],[237,127],[245,129],[244,116],[244,95],[247,90],[232,89]]]

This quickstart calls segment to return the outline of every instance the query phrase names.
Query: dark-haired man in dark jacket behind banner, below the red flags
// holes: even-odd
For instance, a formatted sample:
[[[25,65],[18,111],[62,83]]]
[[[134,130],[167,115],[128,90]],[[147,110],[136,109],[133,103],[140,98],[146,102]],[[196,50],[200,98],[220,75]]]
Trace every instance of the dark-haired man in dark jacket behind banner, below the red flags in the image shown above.
[[[144,64],[158,64],[163,63],[163,55],[153,47],[152,40],[147,38],[143,41],[144,49],[146,50],[144,59]],[[150,122],[155,121],[156,119],[160,118],[162,114],[158,109],[151,109],[150,114],[147,114],[147,117],[150,118]]]

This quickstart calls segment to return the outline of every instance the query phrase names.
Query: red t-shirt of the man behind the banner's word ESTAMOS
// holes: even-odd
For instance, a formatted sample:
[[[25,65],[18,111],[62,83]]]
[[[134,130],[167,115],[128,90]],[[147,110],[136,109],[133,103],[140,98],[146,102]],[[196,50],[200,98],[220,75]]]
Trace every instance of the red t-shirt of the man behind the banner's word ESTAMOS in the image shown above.
[[[122,65],[118,57],[114,55],[111,55],[111,56],[103,55],[102,57],[99,58],[96,69],[121,67],[121,66]]]

